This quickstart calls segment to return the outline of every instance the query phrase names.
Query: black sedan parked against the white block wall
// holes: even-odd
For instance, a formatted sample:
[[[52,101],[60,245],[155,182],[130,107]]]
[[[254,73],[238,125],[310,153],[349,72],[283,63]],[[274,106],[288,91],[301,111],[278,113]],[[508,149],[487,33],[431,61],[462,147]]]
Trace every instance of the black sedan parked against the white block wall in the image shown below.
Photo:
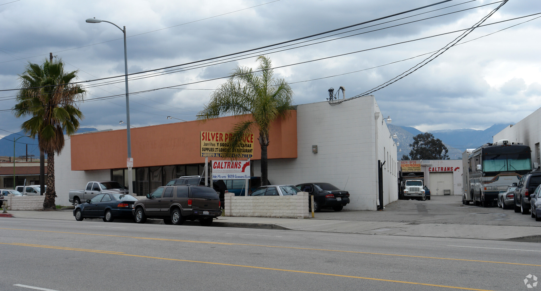
[[[340,190],[329,183],[304,183],[296,185],[303,192],[308,192],[314,196],[314,212],[319,212],[321,208],[332,208],[334,211],[340,211],[349,203],[349,192]]]

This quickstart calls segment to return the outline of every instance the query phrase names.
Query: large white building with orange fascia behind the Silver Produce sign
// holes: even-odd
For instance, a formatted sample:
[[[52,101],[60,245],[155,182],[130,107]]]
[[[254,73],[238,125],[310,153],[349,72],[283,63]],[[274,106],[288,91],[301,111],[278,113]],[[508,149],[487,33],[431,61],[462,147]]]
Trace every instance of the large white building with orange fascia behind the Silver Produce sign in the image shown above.
[[[344,209],[350,210],[377,209],[380,191],[384,205],[397,200],[397,147],[384,116],[372,95],[333,106],[328,102],[297,105],[288,118],[272,124],[269,181],[332,183],[349,191],[351,203]],[[146,195],[172,178],[201,175],[200,132],[228,132],[234,123],[247,118],[227,116],[131,129],[134,193]],[[259,136],[257,130],[254,136]],[[81,189],[87,181],[115,180],[127,185],[126,143],[126,130],[71,136],[55,160],[56,203],[67,205],[69,190]],[[260,158],[255,141],[251,159],[255,176],[260,175]],[[378,161],[383,164],[382,187]]]

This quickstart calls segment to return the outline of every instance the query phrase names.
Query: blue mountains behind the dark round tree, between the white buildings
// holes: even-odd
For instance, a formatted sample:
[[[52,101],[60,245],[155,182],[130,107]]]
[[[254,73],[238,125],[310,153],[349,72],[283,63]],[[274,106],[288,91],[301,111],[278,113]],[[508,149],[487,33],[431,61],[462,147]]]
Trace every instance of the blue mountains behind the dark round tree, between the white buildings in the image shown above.
[[[459,160],[462,158],[462,152],[465,149],[478,148],[487,142],[493,142],[492,136],[496,135],[509,124],[498,123],[485,130],[476,129],[443,129],[433,130],[430,133],[439,138],[447,147],[449,152],[447,153],[451,160]],[[405,127],[394,124],[387,124],[387,127],[391,133],[395,133],[398,136],[398,147],[402,151],[397,153],[398,160],[401,160],[402,155],[408,155],[410,153],[410,144],[413,143],[413,136],[422,134],[423,132],[413,128]]]

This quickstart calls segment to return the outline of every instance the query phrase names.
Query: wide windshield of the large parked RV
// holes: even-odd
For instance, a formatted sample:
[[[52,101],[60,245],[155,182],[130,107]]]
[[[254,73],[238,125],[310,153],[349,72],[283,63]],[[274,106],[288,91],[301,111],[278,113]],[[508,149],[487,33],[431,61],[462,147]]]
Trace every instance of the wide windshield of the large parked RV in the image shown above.
[[[531,159],[528,154],[485,155],[483,171],[520,171],[531,170]]]

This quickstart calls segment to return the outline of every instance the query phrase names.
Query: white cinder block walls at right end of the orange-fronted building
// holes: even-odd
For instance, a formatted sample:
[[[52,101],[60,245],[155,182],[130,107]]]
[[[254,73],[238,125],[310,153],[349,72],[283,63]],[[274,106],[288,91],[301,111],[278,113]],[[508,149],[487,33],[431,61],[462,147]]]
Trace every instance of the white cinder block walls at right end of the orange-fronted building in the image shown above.
[[[382,115],[373,96],[335,106],[327,102],[298,105],[298,156],[269,160],[269,181],[279,184],[332,183],[349,191],[351,202],[344,209],[375,210],[378,159],[383,162],[397,156],[387,125],[381,121]],[[312,153],[312,146],[318,146],[318,153]],[[387,161],[384,168],[384,204],[398,199],[395,162]],[[260,175],[259,165],[259,161],[254,163],[257,176]]]

